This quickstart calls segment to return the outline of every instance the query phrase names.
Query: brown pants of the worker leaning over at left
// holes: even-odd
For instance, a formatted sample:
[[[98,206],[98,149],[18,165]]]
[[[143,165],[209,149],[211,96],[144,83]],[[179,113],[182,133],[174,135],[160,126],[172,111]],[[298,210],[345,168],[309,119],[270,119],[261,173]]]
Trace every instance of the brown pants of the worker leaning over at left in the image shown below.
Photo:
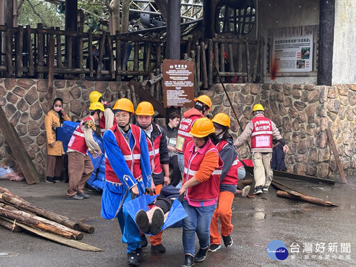
[[[83,193],[86,181],[92,175],[94,167],[88,155],[79,152],[68,153],[68,184],[67,197],[73,197],[76,193]]]

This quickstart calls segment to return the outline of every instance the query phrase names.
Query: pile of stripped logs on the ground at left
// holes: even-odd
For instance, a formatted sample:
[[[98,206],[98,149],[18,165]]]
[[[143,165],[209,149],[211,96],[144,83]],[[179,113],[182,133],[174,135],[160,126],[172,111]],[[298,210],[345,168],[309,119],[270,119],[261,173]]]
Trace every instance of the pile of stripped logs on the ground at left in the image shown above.
[[[13,232],[25,229],[80,250],[102,251],[99,248],[78,242],[83,238],[83,232],[92,234],[95,230],[94,227],[35,207],[2,187],[0,187],[0,225]]]

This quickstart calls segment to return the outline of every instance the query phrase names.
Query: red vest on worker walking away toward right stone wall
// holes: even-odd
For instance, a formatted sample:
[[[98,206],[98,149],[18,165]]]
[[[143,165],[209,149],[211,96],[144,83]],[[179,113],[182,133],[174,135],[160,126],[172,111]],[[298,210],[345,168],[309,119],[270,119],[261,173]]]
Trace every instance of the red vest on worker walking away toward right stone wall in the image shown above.
[[[272,144],[272,122],[263,116],[252,120],[251,149],[273,148]]]

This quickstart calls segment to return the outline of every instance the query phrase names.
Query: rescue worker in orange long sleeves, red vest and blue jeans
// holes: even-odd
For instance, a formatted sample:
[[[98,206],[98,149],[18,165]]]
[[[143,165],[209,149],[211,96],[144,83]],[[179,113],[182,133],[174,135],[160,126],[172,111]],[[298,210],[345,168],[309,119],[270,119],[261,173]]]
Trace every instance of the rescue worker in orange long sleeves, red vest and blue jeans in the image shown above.
[[[191,267],[194,261],[204,261],[209,250],[210,223],[219,196],[219,177],[223,166],[218,149],[211,142],[214,132],[211,120],[197,119],[189,132],[193,140],[184,152],[184,177],[179,194],[185,195],[181,204],[188,216],[183,219],[185,261],[182,267]],[[197,254],[195,232],[200,246]]]

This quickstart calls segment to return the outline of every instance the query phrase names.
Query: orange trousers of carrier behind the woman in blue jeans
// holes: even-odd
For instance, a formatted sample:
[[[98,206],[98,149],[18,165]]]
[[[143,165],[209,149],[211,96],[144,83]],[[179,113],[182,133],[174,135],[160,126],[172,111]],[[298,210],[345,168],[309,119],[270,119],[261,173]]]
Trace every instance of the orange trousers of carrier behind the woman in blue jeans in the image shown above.
[[[234,194],[227,191],[222,191],[218,197],[218,204],[211,218],[210,224],[210,245],[221,243],[221,236],[218,229],[218,218],[220,219],[220,229],[222,236],[231,234],[234,226],[231,224],[232,211],[231,205],[234,201]]]

